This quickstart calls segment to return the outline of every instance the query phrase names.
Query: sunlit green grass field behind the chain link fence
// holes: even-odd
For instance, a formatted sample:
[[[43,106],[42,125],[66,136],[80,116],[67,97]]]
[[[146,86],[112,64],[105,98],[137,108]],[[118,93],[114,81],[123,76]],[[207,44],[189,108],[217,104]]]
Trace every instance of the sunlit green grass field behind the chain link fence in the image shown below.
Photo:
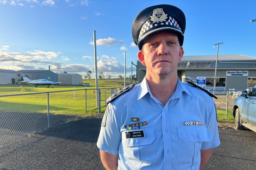
[[[0,85],[0,95],[11,95],[11,94],[25,94],[25,93],[40,93],[40,92],[52,92],[52,91],[63,91],[63,90],[74,90],[74,88],[77,89],[95,89],[95,79],[91,80],[83,80],[84,83],[90,83],[91,86],[82,86],[82,85],[54,85],[53,88],[47,88],[47,86],[37,86],[35,88],[33,85],[20,85],[20,84],[9,84],[9,85]],[[127,84],[131,84],[131,80],[126,80]],[[135,83],[135,80],[133,81]],[[22,87],[21,87],[22,86]],[[124,79],[99,79],[98,80],[98,88],[123,88],[124,87]],[[21,91],[22,89],[26,91]],[[73,93],[73,92],[70,92]],[[95,106],[94,101],[87,101],[87,107],[92,108],[91,110],[87,111],[86,114],[84,114],[83,107],[74,107],[73,104],[67,104],[67,103],[72,103],[68,102],[68,100],[73,101],[73,98],[69,99],[68,96],[65,93],[58,93],[58,95],[63,95],[61,98],[65,98],[65,102],[63,101],[58,101],[54,100],[51,103],[51,109],[53,109],[54,114],[63,114],[63,110],[65,110],[65,113],[69,113],[70,115],[78,115],[78,116],[99,116],[97,114],[98,108]],[[84,94],[83,94],[84,95]],[[108,96],[107,96],[108,95]],[[109,97],[111,94],[108,92],[106,94],[106,98]],[[72,96],[72,94],[71,94]],[[81,96],[83,98],[83,96]],[[1,99],[0,99],[1,100]],[[91,99],[93,100],[93,99]],[[45,98],[40,99],[40,98],[35,98],[33,103],[27,103],[26,100],[23,97],[20,97],[17,101],[2,101],[2,102],[7,102],[7,103],[23,103],[24,105],[39,105],[37,103],[45,103]],[[83,100],[81,100],[83,101]],[[225,101],[224,101],[225,102]],[[76,103],[78,106],[79,105],[84,105],[83,103]],[[38,107],[39,107],[38,106]],[[55,108],[55,109],[54,109]],[[61,109],[59,109],[61,108]],[[47,108],[46,108],[47,109]],[[103,106],[102,109],[105,109]],[[218,121],[219,122],[227,122],[227,123],[234,123],[234,118],[232,114],[232,110],[228,110],[228,118],[226,118],[226,110],[217,110],[217,115],[218,115]]]

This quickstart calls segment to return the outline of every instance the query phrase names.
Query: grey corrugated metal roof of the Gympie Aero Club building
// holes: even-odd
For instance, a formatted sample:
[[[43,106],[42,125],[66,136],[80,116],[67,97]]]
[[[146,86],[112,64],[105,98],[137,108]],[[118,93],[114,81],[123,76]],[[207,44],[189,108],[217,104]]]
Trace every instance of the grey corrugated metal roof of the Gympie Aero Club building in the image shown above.
[[[216,55],[217,56],[217,55]],[[216,61],[216,56],[183,56],[181,61]],[[255,57],[238,55],[218,55],[218,61],[244,61],[256,60]]]

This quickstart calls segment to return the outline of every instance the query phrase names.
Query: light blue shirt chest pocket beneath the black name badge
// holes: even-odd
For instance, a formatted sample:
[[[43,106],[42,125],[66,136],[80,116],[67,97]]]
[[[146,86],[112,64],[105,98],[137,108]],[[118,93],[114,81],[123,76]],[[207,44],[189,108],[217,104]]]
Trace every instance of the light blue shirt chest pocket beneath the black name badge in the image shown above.
[[[144,137],[126,137],[126,132],[122,132],[122,145],[124,155],[126,157],[126,163],[129,164],[130,160],[137,160],[138,166],[143,162],[156,163],[156,146],[155,146],[155,134],[154,128],[141,129],[144,132]],[[136,132],[136,131],[129,131]],[[149,152],[150,151],[150,152]],[[151,158],[151,159],[149,159]],[[152,161],[151,161],[152,160]],[[133,162],[134,165],[134,162]],[[135,168],[136,169],[136,168]]]

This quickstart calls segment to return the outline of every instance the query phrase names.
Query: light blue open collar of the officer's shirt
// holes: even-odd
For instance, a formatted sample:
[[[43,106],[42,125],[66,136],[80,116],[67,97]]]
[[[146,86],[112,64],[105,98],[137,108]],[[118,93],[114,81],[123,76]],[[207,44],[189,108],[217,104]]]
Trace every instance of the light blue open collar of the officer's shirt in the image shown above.
[[[182,96],[182,93],[185,92],[185,93],[188,93],[189,95],[192,95],[189,90],[187,89],[187,86],[185,85],[185,83],[182,83],[180,81],[180,79],[178,78],[178,81],[177,81],[177,86],[176,86],[176,90],[175,92],[173,93],[172,97],[170,98],[171,99],[174,99],[174,98],[180,98]],[[146,77],[144,77],[144,79],[142,80],[142,82],[140,83],[140,87],[139,87],[139,93],[138,93],[138,100],[140,98],[142,98],[143,96],[145,96],[147,93],[149,93],[151,96],[152,96],[152,93],[149,89],[149,86],[148,86],[148,82],[146,80]]]

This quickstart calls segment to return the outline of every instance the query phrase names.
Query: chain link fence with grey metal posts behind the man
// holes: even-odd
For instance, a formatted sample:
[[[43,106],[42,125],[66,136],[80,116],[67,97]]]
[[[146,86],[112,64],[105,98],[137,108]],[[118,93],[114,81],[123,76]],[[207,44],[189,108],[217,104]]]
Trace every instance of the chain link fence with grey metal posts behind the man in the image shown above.
[[[106,99],[119,89],[79,89],[0,95],[0,145],[78,115],[104,113]],[[227,94],[229,90],[216,95],[216,109],[232,110],[234,98]]]

